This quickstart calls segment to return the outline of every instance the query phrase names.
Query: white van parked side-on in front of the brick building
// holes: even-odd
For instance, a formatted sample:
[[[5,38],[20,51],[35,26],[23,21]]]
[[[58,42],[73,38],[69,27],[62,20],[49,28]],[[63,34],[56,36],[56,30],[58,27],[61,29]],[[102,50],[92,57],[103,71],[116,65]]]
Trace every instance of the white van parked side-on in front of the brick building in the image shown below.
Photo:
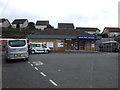
[[[49,53],[50,48],[44,46],[40,42],[31,42],[32,53]]]

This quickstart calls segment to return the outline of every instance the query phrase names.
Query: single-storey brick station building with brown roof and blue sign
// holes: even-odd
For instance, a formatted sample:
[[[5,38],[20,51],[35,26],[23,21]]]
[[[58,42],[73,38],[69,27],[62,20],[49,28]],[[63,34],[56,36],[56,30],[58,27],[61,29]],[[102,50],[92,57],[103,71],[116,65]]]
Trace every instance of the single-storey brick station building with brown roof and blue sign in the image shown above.
[[[74,28],[47,29],[26,36],[29,42],[41,42],[51,51],[88,50],[96,51],[100,37]]]

